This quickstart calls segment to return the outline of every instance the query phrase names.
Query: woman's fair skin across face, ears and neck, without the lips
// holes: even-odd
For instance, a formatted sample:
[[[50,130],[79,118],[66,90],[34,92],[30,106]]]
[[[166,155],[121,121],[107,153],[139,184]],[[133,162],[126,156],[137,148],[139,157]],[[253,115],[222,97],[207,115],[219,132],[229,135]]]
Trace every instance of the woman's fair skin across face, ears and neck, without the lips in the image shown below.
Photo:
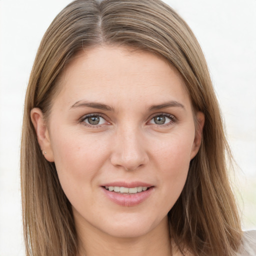
[[[152,53],[98,46],[67,65],[59,88],[47,122],[39,108],[31,119],[72,204],[79,254],[179,255],[169,239],[167,212],[199,149],[204,115],[193,113],[175,68]],[[88,114],[99,124],[89,124]],[[101,186],[120,180],[153,189],[137,205],[119,205]]]

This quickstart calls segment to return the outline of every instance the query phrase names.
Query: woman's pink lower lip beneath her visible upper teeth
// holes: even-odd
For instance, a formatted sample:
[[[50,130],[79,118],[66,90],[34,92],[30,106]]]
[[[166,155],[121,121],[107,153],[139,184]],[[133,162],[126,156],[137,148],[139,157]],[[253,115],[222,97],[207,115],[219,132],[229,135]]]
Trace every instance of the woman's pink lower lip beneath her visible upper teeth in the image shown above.
[[[104,187],[101,187],[105,195],[113,202],[121,206],[134,206],[143,202],[154,190],[154,187],[151,186],[145,191],[137,192],[134,194],[121,194],[113,191],[109,191]]]

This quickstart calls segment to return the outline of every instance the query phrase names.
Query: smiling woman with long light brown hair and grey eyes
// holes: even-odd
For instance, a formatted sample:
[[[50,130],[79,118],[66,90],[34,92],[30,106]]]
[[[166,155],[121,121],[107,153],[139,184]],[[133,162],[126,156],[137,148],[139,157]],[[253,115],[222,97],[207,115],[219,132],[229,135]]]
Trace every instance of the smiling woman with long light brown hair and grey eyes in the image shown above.
[[[253,255],[226,155],[186,23],[158,0],[76,0],[46,31],[26,92],[26,253]]]

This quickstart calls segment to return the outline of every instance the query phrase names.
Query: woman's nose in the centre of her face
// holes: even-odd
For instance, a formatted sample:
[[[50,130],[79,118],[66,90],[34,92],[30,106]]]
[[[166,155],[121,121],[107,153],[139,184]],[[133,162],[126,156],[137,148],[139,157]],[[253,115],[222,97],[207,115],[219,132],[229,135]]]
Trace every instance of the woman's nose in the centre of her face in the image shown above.
[[[128,127],[120,129],[112,142],[110,161],[114,166],[135,170],[148,162],[145,143],[138,129]]]

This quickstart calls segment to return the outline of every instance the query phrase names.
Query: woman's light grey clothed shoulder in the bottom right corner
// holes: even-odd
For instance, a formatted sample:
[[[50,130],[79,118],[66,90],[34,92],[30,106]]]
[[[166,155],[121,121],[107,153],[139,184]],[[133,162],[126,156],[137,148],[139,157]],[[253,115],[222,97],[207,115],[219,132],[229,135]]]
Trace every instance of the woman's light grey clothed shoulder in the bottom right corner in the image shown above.
[[[242,234],[242,244],[238,255],[256,255],[256,230],[244,231]],[[237,256],[238,256],[237,255]]]

